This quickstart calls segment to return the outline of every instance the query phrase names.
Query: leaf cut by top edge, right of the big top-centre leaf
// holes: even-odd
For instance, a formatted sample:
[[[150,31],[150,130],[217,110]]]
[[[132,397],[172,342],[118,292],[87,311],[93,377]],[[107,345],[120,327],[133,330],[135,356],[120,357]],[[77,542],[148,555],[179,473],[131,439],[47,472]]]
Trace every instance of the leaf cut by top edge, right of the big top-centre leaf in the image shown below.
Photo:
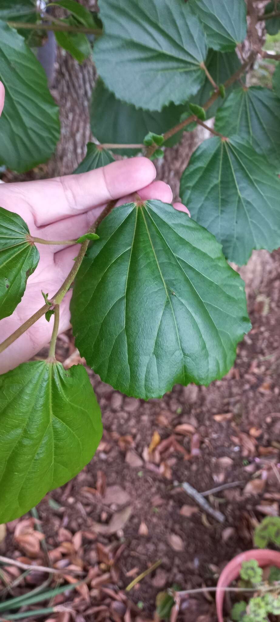
[[[189,0],[189,4],[202,21],[209,47],[230,52],[245,39],[245,0]]]

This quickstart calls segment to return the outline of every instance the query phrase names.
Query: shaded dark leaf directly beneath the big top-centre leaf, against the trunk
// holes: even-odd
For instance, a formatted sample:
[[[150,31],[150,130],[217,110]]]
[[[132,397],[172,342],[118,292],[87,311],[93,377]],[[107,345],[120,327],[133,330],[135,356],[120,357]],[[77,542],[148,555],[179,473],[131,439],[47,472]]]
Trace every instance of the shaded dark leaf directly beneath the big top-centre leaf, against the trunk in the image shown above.
[[[101,143],[142,144],[149,130],[155,134],[163,134],[179,123],[185,108],[183,104],[181,106],[169,104],[160,113],[135,108],[131,104],[117,100],[114,93],[110,93],[99,78],[91,102],[91,130]],[[176,144],[182,134],[183,132],[178,132],[166,142],[166,146]],[[124,156],[133,156],[137,151],[139,149],[117,150]]]

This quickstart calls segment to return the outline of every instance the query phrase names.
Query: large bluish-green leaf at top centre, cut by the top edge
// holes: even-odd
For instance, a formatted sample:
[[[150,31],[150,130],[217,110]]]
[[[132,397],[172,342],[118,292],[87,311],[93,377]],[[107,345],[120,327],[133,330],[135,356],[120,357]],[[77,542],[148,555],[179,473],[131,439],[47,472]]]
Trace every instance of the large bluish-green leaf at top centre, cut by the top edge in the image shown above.
[[[97,71],[127,103],[161,110],[204,83],[201,22],[184,0],[100,0],[105,34],[94,45]]]

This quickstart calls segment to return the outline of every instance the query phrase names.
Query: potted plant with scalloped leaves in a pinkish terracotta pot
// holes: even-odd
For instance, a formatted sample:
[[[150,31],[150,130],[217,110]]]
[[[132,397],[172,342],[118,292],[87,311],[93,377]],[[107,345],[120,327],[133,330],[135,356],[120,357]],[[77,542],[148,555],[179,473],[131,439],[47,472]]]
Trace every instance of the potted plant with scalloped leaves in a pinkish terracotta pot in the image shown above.
[[[266,549],[269,542],[280,547],[280,518],[267,516],[256,527],[251,549],[234,557],[222,571],[217,585],[219,622],[266,622],[280,616],[280,552]],[[238,583],[236,583],[238,580]],[[223,615],[226,588],[232,587],[230,613]]]

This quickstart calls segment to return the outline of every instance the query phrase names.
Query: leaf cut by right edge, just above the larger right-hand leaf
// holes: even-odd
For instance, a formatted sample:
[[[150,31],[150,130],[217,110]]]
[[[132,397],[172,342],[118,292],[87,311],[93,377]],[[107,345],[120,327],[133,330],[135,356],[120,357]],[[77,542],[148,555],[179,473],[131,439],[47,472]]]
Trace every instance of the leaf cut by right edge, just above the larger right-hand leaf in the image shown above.
[[[238,134],[258,153],[280,162],[280,101],[262,86],[235,90],[219,108],[215,129],[224,136]]]

